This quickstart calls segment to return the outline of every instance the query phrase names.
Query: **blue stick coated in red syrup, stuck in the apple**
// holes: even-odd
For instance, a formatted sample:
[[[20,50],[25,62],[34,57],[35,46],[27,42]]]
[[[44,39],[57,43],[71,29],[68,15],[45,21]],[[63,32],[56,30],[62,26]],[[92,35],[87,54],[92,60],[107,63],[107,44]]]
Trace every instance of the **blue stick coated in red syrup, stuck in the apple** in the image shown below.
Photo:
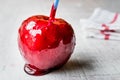
[[[59,0],[55,0],[54,3],[53,3],[53,5],[52,5],[51,12],[50,12],[49,22],[53,22],[54,19],[55,19],[55,15],[56,15],[56,10],[57,10],[57,7],[58,7],[58,3],[59,3]]]

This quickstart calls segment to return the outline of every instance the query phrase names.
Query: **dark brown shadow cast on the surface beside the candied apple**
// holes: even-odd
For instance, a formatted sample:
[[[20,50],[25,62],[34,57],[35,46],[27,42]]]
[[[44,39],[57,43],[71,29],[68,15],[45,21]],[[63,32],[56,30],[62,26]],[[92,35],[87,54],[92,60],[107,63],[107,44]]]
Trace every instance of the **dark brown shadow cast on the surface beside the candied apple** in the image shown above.
[[[95,60],[88,57],[72,58],[62,68],[53,71],[53,74],[73,73],[94,70]],[[84,72],[83,72],[84,73]]]

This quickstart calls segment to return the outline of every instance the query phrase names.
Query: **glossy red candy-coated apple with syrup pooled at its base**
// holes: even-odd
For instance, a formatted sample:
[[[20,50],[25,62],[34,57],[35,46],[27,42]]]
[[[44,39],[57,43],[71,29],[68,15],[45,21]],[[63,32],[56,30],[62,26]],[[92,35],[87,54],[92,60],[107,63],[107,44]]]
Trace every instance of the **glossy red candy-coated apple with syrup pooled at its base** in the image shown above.
[[[18,46],[30,75],[43,75],[62,67],[75,47],[72,26],[61,18],[50,21],[45,15],[27,18],[18,31]]]

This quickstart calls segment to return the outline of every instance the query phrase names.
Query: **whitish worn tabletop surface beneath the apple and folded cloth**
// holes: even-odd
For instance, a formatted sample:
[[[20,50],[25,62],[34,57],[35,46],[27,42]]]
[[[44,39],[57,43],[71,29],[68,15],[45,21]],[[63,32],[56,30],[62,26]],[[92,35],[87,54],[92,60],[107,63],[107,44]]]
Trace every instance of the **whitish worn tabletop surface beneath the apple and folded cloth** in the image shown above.
[[[23,71],[24,60],[17,47],[21,22],[35,14],[49,15],[53,0],[0,0],[0,80],[120,80],[120,41],[84,38],[80,18],[96,7],[120,12],[120,0],[60,0],[57,17],[72,24],[76,48],[61,69],[44,76]]]

